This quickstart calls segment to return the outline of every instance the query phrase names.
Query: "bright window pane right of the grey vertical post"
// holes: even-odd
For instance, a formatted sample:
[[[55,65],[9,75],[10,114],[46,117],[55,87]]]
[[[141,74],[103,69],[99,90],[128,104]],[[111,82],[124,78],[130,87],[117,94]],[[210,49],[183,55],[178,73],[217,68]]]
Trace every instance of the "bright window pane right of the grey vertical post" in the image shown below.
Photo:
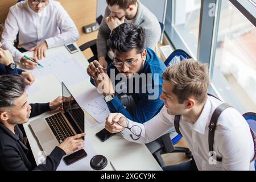
[[[241,113],[256,112],[256,28],[229,1],[221,1],[212,82]]]

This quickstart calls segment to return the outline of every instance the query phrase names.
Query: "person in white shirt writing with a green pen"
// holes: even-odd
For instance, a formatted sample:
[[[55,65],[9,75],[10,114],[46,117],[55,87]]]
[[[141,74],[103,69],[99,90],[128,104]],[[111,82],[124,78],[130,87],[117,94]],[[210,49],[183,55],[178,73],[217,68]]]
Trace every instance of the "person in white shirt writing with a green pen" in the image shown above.
[[[61,34],[60,34],[60,30]],[[20,49],[14,47],[18,35]],[[36,63],[23,57],[25,51],[34,51],[42,59],[46,49],[63,46],[79,39],[79,32],[67,11],[53,0],[26,0],[10,7],[2,34],[3,48],[8,49],[14,60],[25,68],[33,69]]]

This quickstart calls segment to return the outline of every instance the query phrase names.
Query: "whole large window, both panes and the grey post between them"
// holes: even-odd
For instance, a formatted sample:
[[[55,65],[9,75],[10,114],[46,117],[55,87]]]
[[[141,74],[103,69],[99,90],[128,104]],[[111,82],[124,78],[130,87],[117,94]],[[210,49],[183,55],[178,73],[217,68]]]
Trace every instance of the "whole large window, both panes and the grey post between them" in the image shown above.
[[[254,2],[256,0],[167,2],[165,33],[172,46],[208,63],[209,93],[240,113],[256,112]],[[209,15],[212,5],[216,6],[214,16]]]

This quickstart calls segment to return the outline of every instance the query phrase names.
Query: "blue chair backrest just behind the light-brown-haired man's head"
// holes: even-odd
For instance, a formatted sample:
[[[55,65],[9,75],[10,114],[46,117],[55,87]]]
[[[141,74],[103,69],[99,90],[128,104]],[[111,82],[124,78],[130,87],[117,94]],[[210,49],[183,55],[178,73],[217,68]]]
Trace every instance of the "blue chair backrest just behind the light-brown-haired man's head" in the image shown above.
[[[187,52],[181,49],[176,49],[174,52],[171,53],[169,57],[167,57],[166,61],[164,61],[164,64],[166,64],[166,66],[168,67],[172,64],[179,63],[184,59],[190,59],[190,58],[192,57]]]

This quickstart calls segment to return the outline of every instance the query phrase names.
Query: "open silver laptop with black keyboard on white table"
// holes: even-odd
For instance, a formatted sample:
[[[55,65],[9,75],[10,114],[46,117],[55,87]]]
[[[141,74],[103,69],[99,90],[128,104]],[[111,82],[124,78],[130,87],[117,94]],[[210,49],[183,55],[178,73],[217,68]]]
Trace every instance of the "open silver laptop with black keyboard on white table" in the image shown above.
[[[84,133],[84,111],[63,82],[61,87],[63,111],[30,122],[30,127],[46,155],[51,154],[66,138]]]

